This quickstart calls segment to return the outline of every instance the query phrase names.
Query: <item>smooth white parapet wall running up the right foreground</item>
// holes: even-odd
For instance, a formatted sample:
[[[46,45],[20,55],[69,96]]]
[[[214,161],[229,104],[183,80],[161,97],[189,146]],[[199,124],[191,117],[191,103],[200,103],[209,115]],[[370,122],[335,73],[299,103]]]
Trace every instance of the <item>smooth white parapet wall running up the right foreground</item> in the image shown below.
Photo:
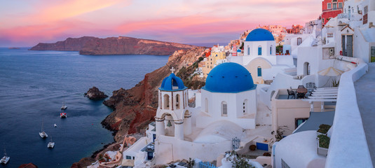
[[[360,63],[341,75],[325,167],[373,167],[354,87],[367,69]]]

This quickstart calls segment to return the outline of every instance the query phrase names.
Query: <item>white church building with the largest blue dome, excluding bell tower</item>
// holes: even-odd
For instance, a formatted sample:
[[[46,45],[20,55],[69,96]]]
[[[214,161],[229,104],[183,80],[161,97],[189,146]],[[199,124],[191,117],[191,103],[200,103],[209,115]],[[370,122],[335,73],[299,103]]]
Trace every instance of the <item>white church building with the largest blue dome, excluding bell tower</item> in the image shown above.
[[[226,120],[243,129],[255,128],[257,85],[244,66],[228,62],[216,66],[202,88],[201,109],[196,127]]]

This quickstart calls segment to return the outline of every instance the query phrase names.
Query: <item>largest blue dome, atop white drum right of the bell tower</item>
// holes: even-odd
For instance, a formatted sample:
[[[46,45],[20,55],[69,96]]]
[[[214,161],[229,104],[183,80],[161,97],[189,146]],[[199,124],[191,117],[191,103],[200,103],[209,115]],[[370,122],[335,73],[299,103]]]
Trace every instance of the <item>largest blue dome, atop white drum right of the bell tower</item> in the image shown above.
[[[202,88],[210,92],[243,92],[256,87],[245,67],[227,62],[219,64],[208,73],[206,85]]]

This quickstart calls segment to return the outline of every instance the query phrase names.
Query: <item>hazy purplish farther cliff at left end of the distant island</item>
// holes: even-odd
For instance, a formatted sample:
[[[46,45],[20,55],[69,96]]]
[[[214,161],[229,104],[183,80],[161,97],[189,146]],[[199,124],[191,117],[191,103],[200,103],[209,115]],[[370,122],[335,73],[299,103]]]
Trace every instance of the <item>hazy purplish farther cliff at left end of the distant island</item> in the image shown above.
[[[88,41],[92,40],[93,36],[83,36],[80,38],[67,38],[64,41],[57,41],[56,43],[39,43],[30,50],[63,50],[63,51],[79,51]]]

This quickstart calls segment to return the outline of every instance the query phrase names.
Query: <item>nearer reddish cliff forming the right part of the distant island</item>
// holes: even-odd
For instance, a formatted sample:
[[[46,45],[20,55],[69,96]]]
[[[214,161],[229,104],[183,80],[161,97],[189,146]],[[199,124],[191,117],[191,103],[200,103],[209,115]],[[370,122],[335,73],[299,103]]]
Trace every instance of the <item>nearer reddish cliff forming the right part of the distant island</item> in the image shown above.
[[[193,45],[131,37],[94,38],[79,51],[81,55],[171,55]]]

